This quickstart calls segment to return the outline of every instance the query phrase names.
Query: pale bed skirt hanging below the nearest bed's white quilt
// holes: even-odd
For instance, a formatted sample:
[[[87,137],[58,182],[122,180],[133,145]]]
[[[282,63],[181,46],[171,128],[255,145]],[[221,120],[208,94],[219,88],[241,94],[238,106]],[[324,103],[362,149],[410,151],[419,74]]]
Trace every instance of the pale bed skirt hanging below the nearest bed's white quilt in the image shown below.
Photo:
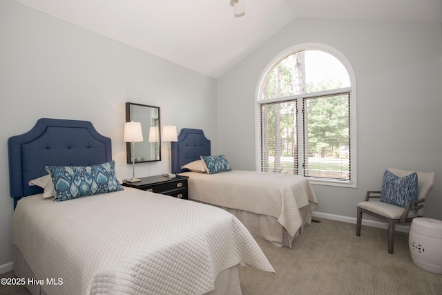
[[[25,278],[26,282],[28,278],[35,278],[34,272],[30,268],[28,262],[23,257],[20,249],[14,245],[13,249],[13,258],[14,258],[14,273],[18,278]],[[46,279],[46,278],[44,278]],[[26,289],[32,295],[48,295],[41,289],[40,285],[26,285]],[[233,294],[240,295],[241,287],[240,287],[240,277],[238,275],[238,267],[237,265],[230,267],[228,269],[224,269],[215,280],[215,289],[210,292],[207,292],[208,295],[222,295],[222,294]]]

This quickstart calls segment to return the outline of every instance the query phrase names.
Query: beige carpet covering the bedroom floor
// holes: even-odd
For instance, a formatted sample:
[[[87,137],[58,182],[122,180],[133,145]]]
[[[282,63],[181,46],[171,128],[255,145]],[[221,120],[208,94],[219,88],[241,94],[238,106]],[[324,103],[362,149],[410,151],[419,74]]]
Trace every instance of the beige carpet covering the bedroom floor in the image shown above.
[[[408,234],[396,233],[394,254],[387,252],[387,230],[320,220],[305,227],[294,248],[258,240],[276,275],[240,267],[242,294],[442,294],[442,274],[412,263]],[[13,276],[12,272],[0,277]],[[28,294],[23,287],[0,286],[0,294]]]

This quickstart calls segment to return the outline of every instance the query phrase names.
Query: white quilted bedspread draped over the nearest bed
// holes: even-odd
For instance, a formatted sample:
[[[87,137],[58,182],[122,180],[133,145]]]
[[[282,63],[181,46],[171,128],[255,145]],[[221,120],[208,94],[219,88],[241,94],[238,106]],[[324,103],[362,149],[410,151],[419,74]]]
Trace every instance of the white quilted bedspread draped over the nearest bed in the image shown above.
[[[131,188],[64,202],[23,198],[12,240],[48,294],[203,294],[239,263],[274,272],[230,213]]]

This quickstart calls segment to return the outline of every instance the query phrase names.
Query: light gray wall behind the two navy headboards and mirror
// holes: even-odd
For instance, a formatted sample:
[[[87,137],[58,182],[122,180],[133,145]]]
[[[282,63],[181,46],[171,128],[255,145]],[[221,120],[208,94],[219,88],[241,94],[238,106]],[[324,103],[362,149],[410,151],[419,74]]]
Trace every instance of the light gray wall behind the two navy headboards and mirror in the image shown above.
[[[15,1],[0,1],[0,266],[12,261],[7,140],[40,117],[88,120],[111,137],[117,177],[130,178],[125,102],[160,106],[161,123],[204,129],[216,147],[216,80],[73,26]],[[196,114],[196,115],[195,115]],[[135,165],[137,177],[169,170]]]

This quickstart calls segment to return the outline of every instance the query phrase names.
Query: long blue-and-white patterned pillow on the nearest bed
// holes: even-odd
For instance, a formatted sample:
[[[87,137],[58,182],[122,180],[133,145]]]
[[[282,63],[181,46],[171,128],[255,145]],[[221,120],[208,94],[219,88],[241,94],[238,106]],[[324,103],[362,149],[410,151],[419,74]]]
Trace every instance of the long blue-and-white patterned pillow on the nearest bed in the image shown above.
[[[115,176],[114,161],[93,166],[46,166],[45,168],[54,184],[54,202],[123,190]]]

